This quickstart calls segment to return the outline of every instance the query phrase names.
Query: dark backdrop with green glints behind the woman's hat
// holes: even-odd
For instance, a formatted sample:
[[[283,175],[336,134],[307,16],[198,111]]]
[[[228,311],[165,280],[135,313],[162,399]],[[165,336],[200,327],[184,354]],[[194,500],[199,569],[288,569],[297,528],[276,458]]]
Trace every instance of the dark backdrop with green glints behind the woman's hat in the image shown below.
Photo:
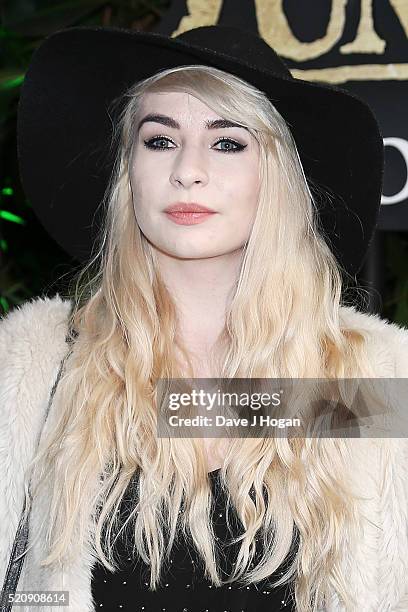
[[[203,0],[203,4],[205,0]],[[315,40],[327,26],[326,0],[283,2],[292,31],[299,40]],[[364,58],[340,56],[338,46],[323,58],[304,62],[302,68],[347,63],[408,63],[407,39],[387,0],[374,0],[376,31],[387,37],[387,53]],[[349,0],[348,20],[340,44],[353,40],[360,2]],[[37,221],[22,190],[16,153],[16,110],[21,83],[31,54],[54,31],[76,25],[114,25],[170,34],[188,13],[185,0],[9,0],[0,3],[0,314],[37,295],[68,292],[78,266],[47,235]],[[256,30],[254,4],[249,0],[224,0],[218,23]],[[351,24],[351,25],[350,25]],[[284,58],[289,68],[299,68]],[[407,137],[408,81],[350,81],[342,87],[369,102],[378,116],[383,135]],[[400,132],[398,132],[400,129]],[[388,131],[387,131],[388,130]],[[391,131],[390,131],[391,130]],[[402,130],[402,132],[401,132]],[[384,194],[401,188],[405,167],[392,147],[386,147]],[[44,189],[47,186],[44,185]],[[408,326],[408,206],[382,206],[379,228],[357,283],[368,303],[360,307],[378,312]]]

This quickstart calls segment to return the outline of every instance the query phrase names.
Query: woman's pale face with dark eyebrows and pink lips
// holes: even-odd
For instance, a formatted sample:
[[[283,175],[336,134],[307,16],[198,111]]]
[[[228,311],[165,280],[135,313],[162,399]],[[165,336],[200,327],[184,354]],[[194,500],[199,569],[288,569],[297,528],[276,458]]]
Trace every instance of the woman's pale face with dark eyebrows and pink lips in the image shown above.
[[[150,118],[149,118],[150,117]],[[143,96],[135,122],[130,181],[137,223],[160,251],[207,258],[248,240],[259,191],[259,147],[245,128],[187,93]],[[200,223],[177,223],[166,207],[196,203],[214,211]],[[197,219],[197,217],[196,217]]]

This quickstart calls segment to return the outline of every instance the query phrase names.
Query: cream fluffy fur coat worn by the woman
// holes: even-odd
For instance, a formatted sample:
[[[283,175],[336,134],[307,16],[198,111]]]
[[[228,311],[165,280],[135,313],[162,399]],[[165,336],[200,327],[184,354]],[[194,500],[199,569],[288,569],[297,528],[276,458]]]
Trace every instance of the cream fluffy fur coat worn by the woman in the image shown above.
[[[24,467],[33,456],[47,400],[60,360],[70,302],[58,295],[37,298],[0,321],[0,584],[3,584],[23,503]],[[408,378],[408,330],[342,307],[349,328],[369,335],[369,354],[378,377]],[[408,397],[401,398],[408,412]],[[50,411],[50,419],[53,404]],[[408,440],[354,439],[355,461],[346,477],[364,496],[364,536],[345,551],[344,576],[360,612],[408,612]],[[71,565],[41,568],[42,542],[36,525],[47,515],[47,499],[35,499],[30,518],[31,550],[18,590],[66,590],[70,605],[32,607],[38,612],[94,610],[91,594],[93,557],[82,551]],[[19,607],[19,610],[28,610]],[[343,610],[333,595],[325,612]]]

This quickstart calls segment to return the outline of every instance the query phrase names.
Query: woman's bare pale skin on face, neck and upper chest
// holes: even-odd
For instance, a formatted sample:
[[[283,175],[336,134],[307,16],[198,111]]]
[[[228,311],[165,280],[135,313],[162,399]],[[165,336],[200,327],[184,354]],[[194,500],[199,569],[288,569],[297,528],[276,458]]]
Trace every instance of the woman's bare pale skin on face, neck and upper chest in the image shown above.
[[[138,129],[147,115],[156,118]],[[157,115],[179,127],[164,125]],[[218,375],[212,345],[224,327],[259,193],[256,139],[240,126],[208,129],[206,122],[216,119],[228,118],[190,94],[145,94],[130,163],[136,220],[157,251],[196,378]],[[174,202],[196,202],[217,214],[197,225],[177,225],[163,212]],[[203,438],[209,471],[222,464],[223,451],[212,452],[213,442]]]

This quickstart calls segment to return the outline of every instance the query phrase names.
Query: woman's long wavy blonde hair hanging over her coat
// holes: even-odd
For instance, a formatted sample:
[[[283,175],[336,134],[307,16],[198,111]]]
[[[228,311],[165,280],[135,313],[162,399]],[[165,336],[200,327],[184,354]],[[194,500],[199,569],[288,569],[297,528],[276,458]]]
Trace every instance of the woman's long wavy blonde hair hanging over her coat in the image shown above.
[[[339,570],[358,519],[343,478],[345,440],[231,441],[220,482],[244,530],[233,573],[223,581],[200,440],[156,435],[157,381],[193,375],[191,363],[186,371],[176,357],[179,347],[188,361],[188,347],[178,337],[175,304],[154,248],[136,222],[129,180],[142,96],[166,91],[197,97],[246,126],[260,146],[257,214],[219,338],[220,377],[372,374],[364,371],[364,335],[342,328],[341,270],[319,230],[293,137],[267,96],[208,66],[168,69],[136,83],[114,126],[117,154],[99,248],[76,279],[71,324],[78,335],[54,397],[54,423],[29,470],[33,498],[49,487],[42,535],[49,550],[42,564],[68,558],[91,541],[95,559],[117,569],[111,536],[119,528],[124,492],[139,470],[140,499],[129,521],[134,521],[134,553],[150,564],[152,589],[160,583],[179,520],[206,577],[217,586],[270,576],[287,557],[297,529],[297,554],[274,584],[294,580],[300,612],[316,610],[333,591],[352,610]],[[263,551],[254,565],[257,535]]]

